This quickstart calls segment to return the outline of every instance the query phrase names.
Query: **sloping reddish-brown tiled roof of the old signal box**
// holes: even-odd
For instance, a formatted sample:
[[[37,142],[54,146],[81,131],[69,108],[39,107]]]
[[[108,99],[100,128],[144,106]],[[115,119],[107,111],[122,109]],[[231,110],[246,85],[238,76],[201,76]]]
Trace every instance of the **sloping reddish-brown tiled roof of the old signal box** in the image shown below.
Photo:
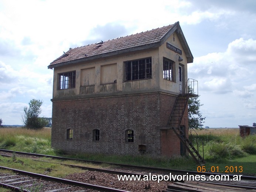
[[[67,51],[65,54],[51,62],[48,68],[53,68],[56,64],[78,62],[97,55],[100,56],[103,54],[125,50],[129,51],[129,49],[132,48],[158,43],[173,27],[173,25],[168,25],[129,36],[127,35],[126,37],[119,37],[113,40],[86,45],[83,47],[69,49],[69,51]]]

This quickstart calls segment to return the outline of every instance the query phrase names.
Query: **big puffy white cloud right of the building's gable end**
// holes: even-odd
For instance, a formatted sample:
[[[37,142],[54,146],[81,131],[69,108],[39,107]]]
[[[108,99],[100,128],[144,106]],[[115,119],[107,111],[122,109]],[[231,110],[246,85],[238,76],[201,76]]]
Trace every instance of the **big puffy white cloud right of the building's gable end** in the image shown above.
[[[202,91],[227,93],[242,89],[242,83],[254,82],[255,47],[256,40],[234,40],[226,52],[195,58],[194,63],[188,65],[189,76],[203,82]],[[247,56],[238,50],[246,50]]]

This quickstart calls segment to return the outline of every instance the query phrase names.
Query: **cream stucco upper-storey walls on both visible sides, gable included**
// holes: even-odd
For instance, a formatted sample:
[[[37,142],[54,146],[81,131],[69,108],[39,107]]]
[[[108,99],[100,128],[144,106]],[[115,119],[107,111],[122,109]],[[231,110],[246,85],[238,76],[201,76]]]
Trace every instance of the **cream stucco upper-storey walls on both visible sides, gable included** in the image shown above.
[[[187,58],[179,34],[168,34],[160,47],[147,48],[114,56],[54,67],[53,100],[116,96],[133,93],[166,92],[178,95],[184,89]],[[183,41],[182,41],[183,42]],[[167,48],[167,43],[181,50]],[[178,61],[179,55],[183,61]],[[127,80],[126,61],[151,58],[151,76],[147,79]],[[172,80],[163,77],[163,58],[170,59]],[[180,70],[179,70],[180,68]],[[75,88],[59,89],[59,74],[75,71]],[[179,76],[181,75],[181,79]]]

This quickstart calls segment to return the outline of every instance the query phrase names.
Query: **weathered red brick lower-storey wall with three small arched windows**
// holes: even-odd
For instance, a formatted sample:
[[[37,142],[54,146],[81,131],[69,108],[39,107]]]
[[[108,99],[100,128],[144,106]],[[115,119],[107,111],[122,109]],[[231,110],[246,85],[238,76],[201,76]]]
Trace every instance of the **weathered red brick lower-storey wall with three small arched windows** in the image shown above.
[[[54,101],[52,103],[52,147],[69,152],[140,154],[147,145],[151,155],[179,154],[180,140],[167,131],[168,143],[160,141],[176,97],[148,93],[116,97]],[[73,139],[66,139],[72,128]],[[100,130],[100,141],[93,141],[93,130]],[[134,131],[134,142],[126,142],[125,130]],[[171,142],[171,143],[170,143]],[[171,146],[171,147],[170,147]],[[168,152],[165,154],[166,149]]]

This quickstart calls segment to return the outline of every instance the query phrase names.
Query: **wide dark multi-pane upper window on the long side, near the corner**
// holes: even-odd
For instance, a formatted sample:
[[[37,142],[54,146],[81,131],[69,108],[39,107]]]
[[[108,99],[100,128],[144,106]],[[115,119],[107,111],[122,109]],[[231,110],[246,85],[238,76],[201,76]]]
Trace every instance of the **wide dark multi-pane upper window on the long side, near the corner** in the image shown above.
[[[124,62],[125,81],[149,79],[152,77],[152,61],[151,57]]]

